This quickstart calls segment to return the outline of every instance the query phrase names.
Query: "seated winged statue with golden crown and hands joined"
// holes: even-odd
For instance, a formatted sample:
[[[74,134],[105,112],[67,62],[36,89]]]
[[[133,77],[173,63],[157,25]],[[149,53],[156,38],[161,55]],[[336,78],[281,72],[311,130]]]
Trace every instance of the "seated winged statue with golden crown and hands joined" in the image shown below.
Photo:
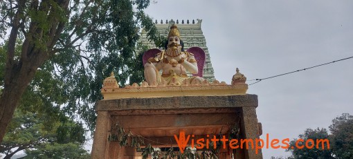
[[[204,63],[205,52],[202,48],[183,50],[183,41],[175,24],[170,27],[165,50],[154,48],[147,50],[143,55],[145,79],[150,86],[159,85],[161,82],[180,85],[185,79],[190,83],[194,80],[202,82]],[[189,78],[187,71],[192,73],[193,77]]]

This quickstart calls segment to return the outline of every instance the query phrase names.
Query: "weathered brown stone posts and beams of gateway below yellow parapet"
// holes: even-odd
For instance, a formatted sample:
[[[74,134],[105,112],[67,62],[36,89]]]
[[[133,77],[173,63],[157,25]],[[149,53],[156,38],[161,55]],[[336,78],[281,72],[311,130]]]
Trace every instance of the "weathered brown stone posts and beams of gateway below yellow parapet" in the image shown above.
[[[98,120],[93,141],[92,158],[136,158],[135,149],[120,147],[118,142],[109,142],[107,136],[111,126],[119,124],[134,135],[147,141],[177,143],[174,135],[185,131],[195,138],[205,138],[218,132],[228,132],[233,124],[239,123],[242,138],[259,137],[257,124],[257,95],[215,95],[148,97],[101,100],[96,103]],[[228,132],[229,133],[229,132]],[[163,144],[153,143],[154,146]],[[145,146],[145,145],[141,145]],[[165,145],[164,145],[165,146]],[[220,158],[230,158],[231,149],[219,153]],[[235,158],[262,158],[261,150],[237,149]]]

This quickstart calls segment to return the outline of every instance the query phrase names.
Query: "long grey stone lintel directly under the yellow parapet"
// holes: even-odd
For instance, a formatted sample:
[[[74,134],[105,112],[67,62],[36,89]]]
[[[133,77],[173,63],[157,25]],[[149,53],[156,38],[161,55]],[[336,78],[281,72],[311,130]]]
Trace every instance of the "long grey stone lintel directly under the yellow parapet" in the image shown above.
[[[179,96],[100,100],[96,111],[215,109],[257,107],[257,95]]]

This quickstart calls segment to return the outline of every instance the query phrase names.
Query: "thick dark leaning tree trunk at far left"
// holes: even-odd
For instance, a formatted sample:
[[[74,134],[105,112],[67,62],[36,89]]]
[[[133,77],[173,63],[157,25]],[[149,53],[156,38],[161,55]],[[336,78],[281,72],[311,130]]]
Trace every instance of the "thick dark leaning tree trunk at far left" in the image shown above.
[[[21,96],[24,94],[28,84],[35,76],[35,71],[41,66],[50,55],[53,54],[51,49],[55,45],[56,41],[59,39],[60,34],[64,28],[64,22],[59,20],[59,17],[55,15],[55,8],[49,8],[44,5],[42,8],[37,8],[37,6],[32,6],[34,8],[29,8],[29,10],[39,10],[41,12],[48,12],[48,32],[42,30],[39,27],[40,24],[37,22],[31,22],[28,34],[21,50],[21,59],[15,61],[15,44],[17,41],[17,35],[20,27],[20,20],[23,18],[23,12],[25,7],[24,0],[19,1],[19,8],[12,19],[12,29],[10,32],[10,38],[8,40],[8,50],[6,59],[6,70],[4,77],[4,88],[0,97],[0,143],[3,141],[3,136],[6,133],[6,128],[12,119],[12,115],[15,112],[16,106],[21,100]],[[42,1],[44,2],[44,1]],[[56,3],[64,10],[67,10],[69,6],[69,1],[60,0]],[[24,19],[22,19],[23,23]],[[23,28],[22,28],[23,29]],[[43,35],[46,32],[46,35]],[[40,41],[42,37],[50,37],[46,44],[46,48],[36,47],[35,41]],[[38,39],[39,38],[39,39]]]

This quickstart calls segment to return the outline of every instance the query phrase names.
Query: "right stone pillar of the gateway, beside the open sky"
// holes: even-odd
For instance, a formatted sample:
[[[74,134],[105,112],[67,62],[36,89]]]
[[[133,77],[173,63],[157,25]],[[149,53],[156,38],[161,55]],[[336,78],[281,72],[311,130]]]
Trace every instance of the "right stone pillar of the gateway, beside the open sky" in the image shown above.
[[[242,107],[242,136],[244,139],[252,139],[253,140],[253,147],[254,149],[251,148],[251,145],[249,145],[249,149],[245,152],[245,158],[246,159],[262,159],[262,151],[261,149],[257,150],[257,154],[255,152],[255,139],[259,138],[258,132],[258,124],[257,124],[257,115],[256,115],[256,108],[255,106],[244,106]],[[243,150],[246,149],[244,145]]]

